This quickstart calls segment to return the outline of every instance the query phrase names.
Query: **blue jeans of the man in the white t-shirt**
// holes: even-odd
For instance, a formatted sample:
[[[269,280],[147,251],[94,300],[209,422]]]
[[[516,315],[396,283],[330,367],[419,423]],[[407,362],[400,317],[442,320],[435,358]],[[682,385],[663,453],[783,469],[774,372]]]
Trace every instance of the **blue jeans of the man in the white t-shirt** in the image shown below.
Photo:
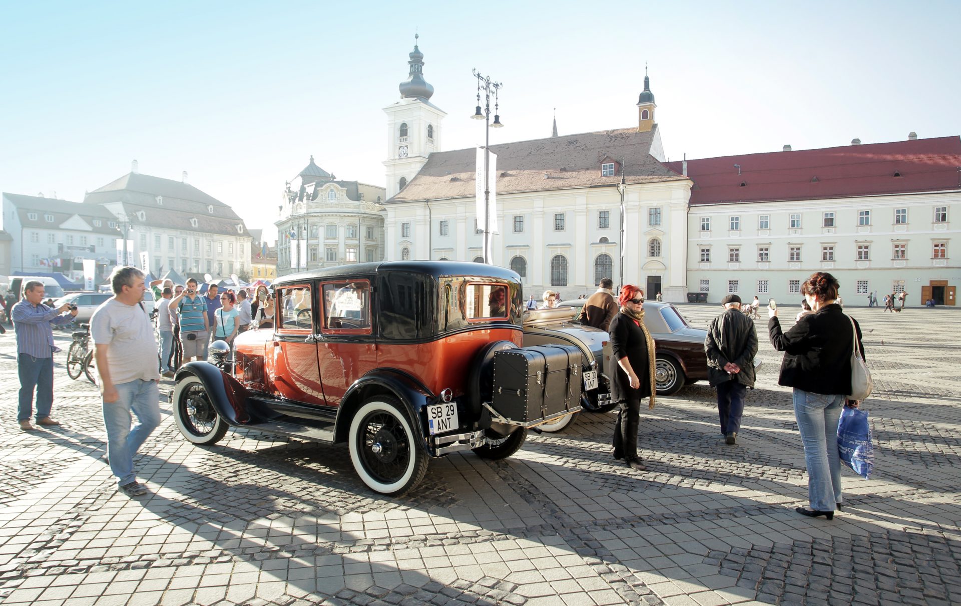
[[[160,425],[160,390],[157,381],[134,379],[113,386],[119,396],[115,402],[104,402],[104,425],[107,427],[107,457],[117,485],[136,482],[134,455],[140,444]],[[131,412],[137,423],[131,429]]]

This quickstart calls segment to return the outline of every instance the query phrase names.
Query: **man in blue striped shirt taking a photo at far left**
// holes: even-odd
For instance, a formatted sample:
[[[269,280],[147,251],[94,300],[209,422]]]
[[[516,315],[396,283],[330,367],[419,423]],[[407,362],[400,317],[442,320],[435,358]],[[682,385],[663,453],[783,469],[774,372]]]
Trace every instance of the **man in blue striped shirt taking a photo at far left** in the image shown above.
[[[60,425],[50,418],[54,405],[54,344],[53,325],[68,324],[77,316],[77,309],[64,303],[60,309],[44,305],[43,284],[31,280],[23,289],[23,299],[13,306],[13,328],[16,330],[16,363],[20,375],[20,403],[16,420],[20,429],[30,431],[30,417],[34,413],[34,390],[37,390],[37,424]]]

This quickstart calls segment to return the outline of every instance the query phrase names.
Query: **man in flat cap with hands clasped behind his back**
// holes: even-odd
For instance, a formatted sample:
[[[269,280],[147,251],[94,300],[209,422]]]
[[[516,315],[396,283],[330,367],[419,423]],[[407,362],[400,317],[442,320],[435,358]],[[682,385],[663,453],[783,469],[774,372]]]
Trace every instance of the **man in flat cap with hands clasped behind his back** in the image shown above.
[[[707,379],[718,391],[718,416],[725,442],[737,443],[744,414],[744,395],[754,388],[754,356],[757,333],[754,321],[741,313],[741,297],[728,294],[721,299],[724,314],[707,326],[704,351],[707,353]]]

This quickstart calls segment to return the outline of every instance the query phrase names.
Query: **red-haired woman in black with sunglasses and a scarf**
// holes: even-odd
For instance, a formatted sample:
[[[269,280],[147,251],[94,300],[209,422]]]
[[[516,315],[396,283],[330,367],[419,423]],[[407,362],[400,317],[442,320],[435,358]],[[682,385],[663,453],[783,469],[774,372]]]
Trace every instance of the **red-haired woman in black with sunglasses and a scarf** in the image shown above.
[[[641,398],[649,397],[654,407],[654,341],[644,325],[644,292],[632,285],[621,289],[621,311],[607,327],[610,346],[617,361],[611,382],[611,400],[620,404],[614,425],[614,458],[623,459],[633,469],[646,469],[637,456],[637,425]]]

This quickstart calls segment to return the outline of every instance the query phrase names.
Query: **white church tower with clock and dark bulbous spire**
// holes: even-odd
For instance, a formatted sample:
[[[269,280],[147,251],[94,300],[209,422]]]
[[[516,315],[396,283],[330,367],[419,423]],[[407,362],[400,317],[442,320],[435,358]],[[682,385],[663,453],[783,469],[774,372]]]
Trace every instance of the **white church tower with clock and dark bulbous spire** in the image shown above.
[[[409,54],[410,71],[401,83],[401,100],[383,108],[387,114],[387,198],[392,198],[427,163],[431,152],[440,151],[440,123],[447,115],[431,104],[433,87],[424,80],[424,53]]]

